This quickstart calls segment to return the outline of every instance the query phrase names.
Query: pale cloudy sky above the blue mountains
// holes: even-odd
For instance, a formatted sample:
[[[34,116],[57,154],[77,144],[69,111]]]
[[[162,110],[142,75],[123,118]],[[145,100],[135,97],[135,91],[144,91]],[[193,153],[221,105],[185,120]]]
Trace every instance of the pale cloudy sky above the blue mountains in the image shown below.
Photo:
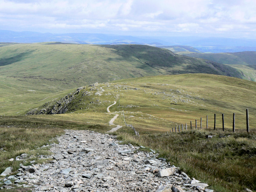
[[[256,39],[256,1],[0,0],[0,29]]]

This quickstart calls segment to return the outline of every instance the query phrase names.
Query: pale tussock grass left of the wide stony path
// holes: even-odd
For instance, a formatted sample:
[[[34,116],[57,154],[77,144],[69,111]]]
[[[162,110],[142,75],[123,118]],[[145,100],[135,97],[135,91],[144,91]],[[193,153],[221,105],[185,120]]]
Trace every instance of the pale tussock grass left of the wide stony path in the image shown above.
[[[0,127],[0,148],[6,152],[0,151],[0,172],[7,167],[13,167],[14,170],[19,168],[20,163],[29,164],[29,161],[38,160],[37,155],[48,155],[48,149],[40,148],[40,146],[50,144],[51,138],[63,134],[60,128],[28,128],[28,127]],[[33,158],[27,162],[8,161],[8,159],[17,157],[23,153],[32,155]]]

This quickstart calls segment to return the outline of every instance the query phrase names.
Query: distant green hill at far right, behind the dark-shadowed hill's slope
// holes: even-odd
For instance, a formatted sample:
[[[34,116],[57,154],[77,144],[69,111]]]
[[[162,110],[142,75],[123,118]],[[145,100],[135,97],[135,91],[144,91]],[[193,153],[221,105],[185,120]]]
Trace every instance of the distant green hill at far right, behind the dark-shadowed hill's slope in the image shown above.
[[[208,59],[222,64],[256,65],[256,51],[243,51],[236,53],[197,53],[196,51],[183,51],[177,52],[177,54]]]

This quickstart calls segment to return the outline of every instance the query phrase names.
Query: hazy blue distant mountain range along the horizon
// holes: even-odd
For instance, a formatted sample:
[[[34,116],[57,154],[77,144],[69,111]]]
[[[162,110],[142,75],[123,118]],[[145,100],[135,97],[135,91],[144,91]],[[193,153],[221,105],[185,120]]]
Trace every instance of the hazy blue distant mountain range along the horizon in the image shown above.
[[[188,45],[196,48],[199,52],[239,52],[256,51],[255,39],[232,39],[232,38],[202,38],[202,37],[135,37],[111,34],[92,33],[39,33],[32,31],[8,31],[0,30],[0,42],[36,43],[36,42],[65,42],[75,44],[98,44],[98,45],[122,45],[137,44],[151,46]]]

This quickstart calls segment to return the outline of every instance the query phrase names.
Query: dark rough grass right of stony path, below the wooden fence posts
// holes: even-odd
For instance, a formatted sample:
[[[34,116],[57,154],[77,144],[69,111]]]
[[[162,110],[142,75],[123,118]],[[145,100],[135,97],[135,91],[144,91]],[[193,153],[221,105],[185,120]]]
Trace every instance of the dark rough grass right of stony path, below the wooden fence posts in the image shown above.
[[[117,135],[125,142],[157,150],[159,157],[167,158],[216,191],[256,189],[255,134],[196,130],[136,137],[120,130]],[[207,135],[216,137],[206,139]]]

